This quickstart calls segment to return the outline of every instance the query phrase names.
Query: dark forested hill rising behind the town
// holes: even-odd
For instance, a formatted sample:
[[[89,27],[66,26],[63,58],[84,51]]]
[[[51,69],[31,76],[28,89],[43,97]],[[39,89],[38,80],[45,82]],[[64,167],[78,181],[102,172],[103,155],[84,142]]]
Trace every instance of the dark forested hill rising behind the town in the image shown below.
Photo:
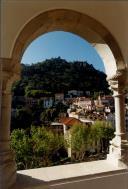
[[[22,64],[22,80],[14,85],[13,92],[15,96],[24,96],[30,90],[53,94],[68,90],[108,93],[108,83],[106,75],[93,65],[80,61],[67,62],[58,57],[32,65]]]

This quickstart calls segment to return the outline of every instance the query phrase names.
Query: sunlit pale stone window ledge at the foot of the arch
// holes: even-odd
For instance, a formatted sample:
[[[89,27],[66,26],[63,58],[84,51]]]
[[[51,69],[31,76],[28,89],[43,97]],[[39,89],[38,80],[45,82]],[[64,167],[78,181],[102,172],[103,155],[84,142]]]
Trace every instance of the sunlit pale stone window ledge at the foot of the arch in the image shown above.
[[[65,189],[67,189],[67,184],[89,180],[92,182],[92,180],[118,174],[127,174],[128,179],[127,169],[118,168],[107,160],[29,169],[17,173],[17,183],[13,189],[56,189],[65,184]],[[81,189],[81,186],[79,188]]]

